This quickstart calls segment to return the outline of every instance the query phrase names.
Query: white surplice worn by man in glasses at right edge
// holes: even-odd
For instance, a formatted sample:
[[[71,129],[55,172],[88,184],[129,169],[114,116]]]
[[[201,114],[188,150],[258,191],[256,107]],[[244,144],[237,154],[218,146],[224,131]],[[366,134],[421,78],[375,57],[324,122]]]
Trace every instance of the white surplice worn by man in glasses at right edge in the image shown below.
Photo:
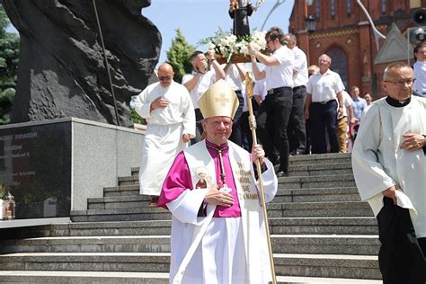
[[[426,99],[412,96],[400,108],[385,98],[373,102],[362,116],[352,150],[353,174],[361,199],[375,216],[383,207],[381,191],[400,186],[398,205],[410,209],[417,237],[426,237],[426,155],[423,149],[400,148],[407,132],[426,134]]]

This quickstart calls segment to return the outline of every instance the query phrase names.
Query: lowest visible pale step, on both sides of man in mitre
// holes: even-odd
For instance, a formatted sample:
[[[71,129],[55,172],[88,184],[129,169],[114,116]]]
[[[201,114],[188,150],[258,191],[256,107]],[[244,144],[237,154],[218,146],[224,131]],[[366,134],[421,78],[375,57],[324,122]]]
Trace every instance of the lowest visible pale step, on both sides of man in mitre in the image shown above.
[[[68,283],[68,284],[166,284],[168,273],[102,272],[102,271],[0,271],[2,283]],[[277,276],[277,283],[379,284],[380,280]]]

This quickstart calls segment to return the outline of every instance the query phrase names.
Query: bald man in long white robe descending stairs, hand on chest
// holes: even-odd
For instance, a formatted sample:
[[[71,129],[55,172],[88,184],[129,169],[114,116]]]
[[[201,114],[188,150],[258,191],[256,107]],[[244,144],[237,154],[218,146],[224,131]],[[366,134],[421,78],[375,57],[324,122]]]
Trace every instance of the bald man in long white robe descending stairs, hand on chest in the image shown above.
[[[156,206],[165,175],[174,157],[195,137],[195,114],[190,93],[173,81],[173,67],[158,67],[160,82],[148,85],[135,102],[147,128],[139,171],[140,194],[151,195]]]

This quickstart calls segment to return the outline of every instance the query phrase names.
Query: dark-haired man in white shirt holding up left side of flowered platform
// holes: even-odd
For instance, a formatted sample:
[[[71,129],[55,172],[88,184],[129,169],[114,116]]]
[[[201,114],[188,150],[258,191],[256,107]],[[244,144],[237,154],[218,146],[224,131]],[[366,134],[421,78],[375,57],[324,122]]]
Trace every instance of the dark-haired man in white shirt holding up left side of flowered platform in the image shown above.
[[[217,63],[214,53],[211,50],[208,51],[208,58],[206,58],[204,53],[200,50],[192,53],[191,65],[194,71],[192,74],[187,74],[182,77],[182,84],[190,92],[192,104],[195,110],[197,128],[195,139],[191,140],[191,143],[193,144],[200,141],[202,133],[202,114],[197,101],[200,96],[209,89],[210,85],[215,84],[215,82],[219,79],[225,78],[225,71]]]

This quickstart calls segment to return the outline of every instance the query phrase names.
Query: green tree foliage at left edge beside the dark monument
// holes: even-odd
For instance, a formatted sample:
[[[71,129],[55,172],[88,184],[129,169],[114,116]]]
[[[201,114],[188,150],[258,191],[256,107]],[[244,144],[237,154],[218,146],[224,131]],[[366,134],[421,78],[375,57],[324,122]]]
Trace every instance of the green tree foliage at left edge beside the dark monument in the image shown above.
[[[0,4],[0,124],[10,121],[18,79],[19,37],[6,32],[9,24],[9,18]]]

